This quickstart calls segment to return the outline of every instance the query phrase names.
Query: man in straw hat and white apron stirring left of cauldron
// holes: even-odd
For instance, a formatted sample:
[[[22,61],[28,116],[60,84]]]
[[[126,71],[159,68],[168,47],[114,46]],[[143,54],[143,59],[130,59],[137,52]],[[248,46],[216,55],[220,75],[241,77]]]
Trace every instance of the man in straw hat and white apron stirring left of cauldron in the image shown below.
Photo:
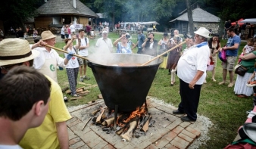
[[[55,82],[57,79],[57,65],[60,67],[65,67],[73,53],[67,55],[66,58],[62,58],[59,54],[52,48],[42,47],[42,45],[55,46],[56,36],[52,34],[51,31],[47,30],[41,34],[42,40],[32,45],[33,50],[39,51],[40,54],[34,59],[33,67],[39,72],[51,77]]]

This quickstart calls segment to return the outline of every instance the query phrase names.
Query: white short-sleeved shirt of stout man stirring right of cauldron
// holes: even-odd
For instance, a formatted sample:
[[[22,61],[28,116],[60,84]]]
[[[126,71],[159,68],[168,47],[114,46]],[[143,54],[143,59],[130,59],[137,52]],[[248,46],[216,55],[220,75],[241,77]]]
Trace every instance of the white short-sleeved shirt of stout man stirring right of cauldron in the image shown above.
[[[191,48],[184,51],[183,55],[178,61],[177,75],[184,82],[189,83],[192,81],[192,79],[194,79],[195,74],[198,72],[198,70],[203,71],[204,74],[201,76],[200,79],[198,79],[197,82],[195,82],[196,85],[201,85],[204,83],[204,79],[206,77],[206,68],[208,64],[208,59],[210,57],[210,49],[207,43],[206,45],[201,47],[197,46],[198,45],[193,45]]]

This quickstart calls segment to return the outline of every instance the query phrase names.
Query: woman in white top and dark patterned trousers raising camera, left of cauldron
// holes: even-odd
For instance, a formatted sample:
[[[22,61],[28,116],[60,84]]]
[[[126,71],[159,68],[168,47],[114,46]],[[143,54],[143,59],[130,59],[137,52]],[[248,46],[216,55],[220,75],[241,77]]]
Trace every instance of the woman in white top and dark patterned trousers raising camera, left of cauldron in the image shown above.
[[[76,39],[76,36],[72,36],[71,39],[65,39],[66,45],[64,46],[64,51],[72,52],[73,54],[77,54],[76,49],[80,48],[81,45],[81,39],[80,36],[78,36],[78,44],[73,46],[73,40]],[[67,57],[67,54],[65,54],[65,57]],[[76,95],[76,85],[77,85],[77,75],[79,71],[79,64],[77,57],[71,57],[70,61],[68,61],[68,64],[66,65],[67,70],[67,79],[70,83],[70,90],[71,95],[74,97],[77,97],[79,95]]]

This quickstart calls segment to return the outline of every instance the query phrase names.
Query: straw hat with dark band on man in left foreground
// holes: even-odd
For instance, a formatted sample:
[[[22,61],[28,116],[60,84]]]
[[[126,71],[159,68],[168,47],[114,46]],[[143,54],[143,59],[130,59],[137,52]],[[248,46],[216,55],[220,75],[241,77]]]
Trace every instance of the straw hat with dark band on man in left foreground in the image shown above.
[[[4,39],[0,42],[0,66],[30,61],[39,54],[39,51],[31,51],[29,42],[24,39]]]

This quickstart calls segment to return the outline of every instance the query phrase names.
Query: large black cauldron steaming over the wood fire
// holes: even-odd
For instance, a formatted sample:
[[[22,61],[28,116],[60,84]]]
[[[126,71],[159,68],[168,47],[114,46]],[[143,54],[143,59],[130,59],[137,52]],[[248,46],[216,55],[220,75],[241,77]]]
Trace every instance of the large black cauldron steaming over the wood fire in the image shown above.
[[[152,58],[144,54],[109,54],[98,60],[88,57],[88,66],[92,68],[108,108],[114,110],[118,105],[118,111],[131,112],[142,106],[162,60],[157,59],[143,67],[120,67],[117,64],[144,64]]]

